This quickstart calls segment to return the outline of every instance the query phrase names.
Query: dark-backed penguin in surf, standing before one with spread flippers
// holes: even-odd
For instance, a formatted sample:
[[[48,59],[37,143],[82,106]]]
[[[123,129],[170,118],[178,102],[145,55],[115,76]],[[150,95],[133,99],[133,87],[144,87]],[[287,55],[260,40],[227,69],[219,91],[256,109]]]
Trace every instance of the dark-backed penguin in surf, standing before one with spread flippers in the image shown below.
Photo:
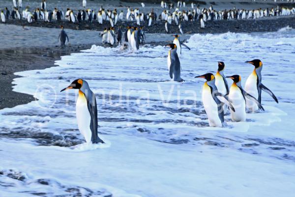
[[[177,45],[174,43],[167,44],[166,46],[169,46],[171,49],[168,52],[167,57],[167,66],[170,74],[170,78],[177,82],[184,81],[180,77],[180,61],[177,55]]]

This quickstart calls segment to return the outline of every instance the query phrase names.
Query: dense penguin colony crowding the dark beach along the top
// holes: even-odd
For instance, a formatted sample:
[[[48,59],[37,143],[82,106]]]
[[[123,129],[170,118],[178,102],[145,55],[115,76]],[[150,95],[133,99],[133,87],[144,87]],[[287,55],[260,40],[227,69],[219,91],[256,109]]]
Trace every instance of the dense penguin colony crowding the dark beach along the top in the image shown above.
[[[289,0],[290,2],[292,0]],[[295,1],[295,0],[294,0]],[[0,14],[1,22],[5,23],[10,18],[22,20],[25,19],[28,23],[32,23],[36,20],[43,20],[44,22],[51,23],[52,21],[66,20],[70,23],[78,24],[82,21],[88,21],[92,23],[97,21],[98,24],[107,23],[110,27],[115,27],[118,21],[133,21],[136,22],[137,26],[152,26],[157,21],[164,22],[166,33],[170,33],[170,26],[176,25],[179,33],[183,34],[181,23],[188,21],[200,21],[201,29],[206,27],[206,23],[212,20],[246,20],[246,19],[258,19],[269,16],[287,16],[294,15],[295,8],[288,7],[273,7],[271,9],[233,9],[227,10],[215,10],[212,5],[208,8],[200,8],[200,5],[196,5],[193,2],[189,6],[186,5],[185,1],[177,1],[176,8],[174,3],[166,3],[161,1],[160,6],[163,11],[160,14],[154,12],[151,9],[150,12],[144,13],[139,8],[127,7],[126,13],[123,10],[118,11],[117,8],[114,10],[105,10],[102,6],[99,10],[87,9],[87,1],[82,0],[83,9],[73,10],[67,8],[65,13],[58,8],[53,10],[46,8],[46,0],[41,0],[40,7],[31,9],[27,6],[22,12],[19,8],[22,8],[22,0],[13,0],[13,6],[11,13],[6,7],[3,14]],[[141,3],[142,7],[145,7],[144,3]]]

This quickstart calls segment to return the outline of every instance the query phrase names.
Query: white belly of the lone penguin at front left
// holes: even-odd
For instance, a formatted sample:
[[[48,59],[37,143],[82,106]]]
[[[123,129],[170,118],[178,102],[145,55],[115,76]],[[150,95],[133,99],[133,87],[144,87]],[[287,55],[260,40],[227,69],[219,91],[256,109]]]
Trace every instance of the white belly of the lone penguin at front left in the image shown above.
[[[81,134],[84,136],[87,143],[91,142],[91,130],[90,122],[91,117],[87,106],[87,100],[84,94],[79,93],[79,97],[76,103],[76,117],[78,121],[78,128]]]

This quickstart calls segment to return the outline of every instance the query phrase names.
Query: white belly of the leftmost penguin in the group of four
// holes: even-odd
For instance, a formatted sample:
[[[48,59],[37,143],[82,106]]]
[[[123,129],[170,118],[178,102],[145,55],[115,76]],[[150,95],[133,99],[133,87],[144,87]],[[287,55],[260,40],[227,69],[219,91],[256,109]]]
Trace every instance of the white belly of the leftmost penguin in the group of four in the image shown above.
[[[222,127],[221,120],[218,116],[217,103],[211,95],[210,87],[205,84],[202,92],[203,105],[208,116],[208,122],[210,127]]]

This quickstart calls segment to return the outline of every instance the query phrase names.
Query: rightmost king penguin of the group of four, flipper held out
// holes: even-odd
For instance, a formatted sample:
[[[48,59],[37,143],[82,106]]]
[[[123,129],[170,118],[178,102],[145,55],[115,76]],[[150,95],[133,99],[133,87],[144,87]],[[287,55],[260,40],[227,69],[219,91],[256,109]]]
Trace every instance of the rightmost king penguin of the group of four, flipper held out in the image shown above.
[[[252,61],[247,61],[246,63],[252,64],[255,66],[255,68],[246,81],[245,91],[255,97],[255,99],[257,99],[260,104],[262,90],[269,94],[278,103],[278,99],[275,97],[275,95],[261,82],[261,71],[263,66],[262,62],[258,59],[255,59]],[[247,108],[251,112],[257,111],[259,109],[257,103],[253,102],[252,100],[246,99],[246,103]]]

